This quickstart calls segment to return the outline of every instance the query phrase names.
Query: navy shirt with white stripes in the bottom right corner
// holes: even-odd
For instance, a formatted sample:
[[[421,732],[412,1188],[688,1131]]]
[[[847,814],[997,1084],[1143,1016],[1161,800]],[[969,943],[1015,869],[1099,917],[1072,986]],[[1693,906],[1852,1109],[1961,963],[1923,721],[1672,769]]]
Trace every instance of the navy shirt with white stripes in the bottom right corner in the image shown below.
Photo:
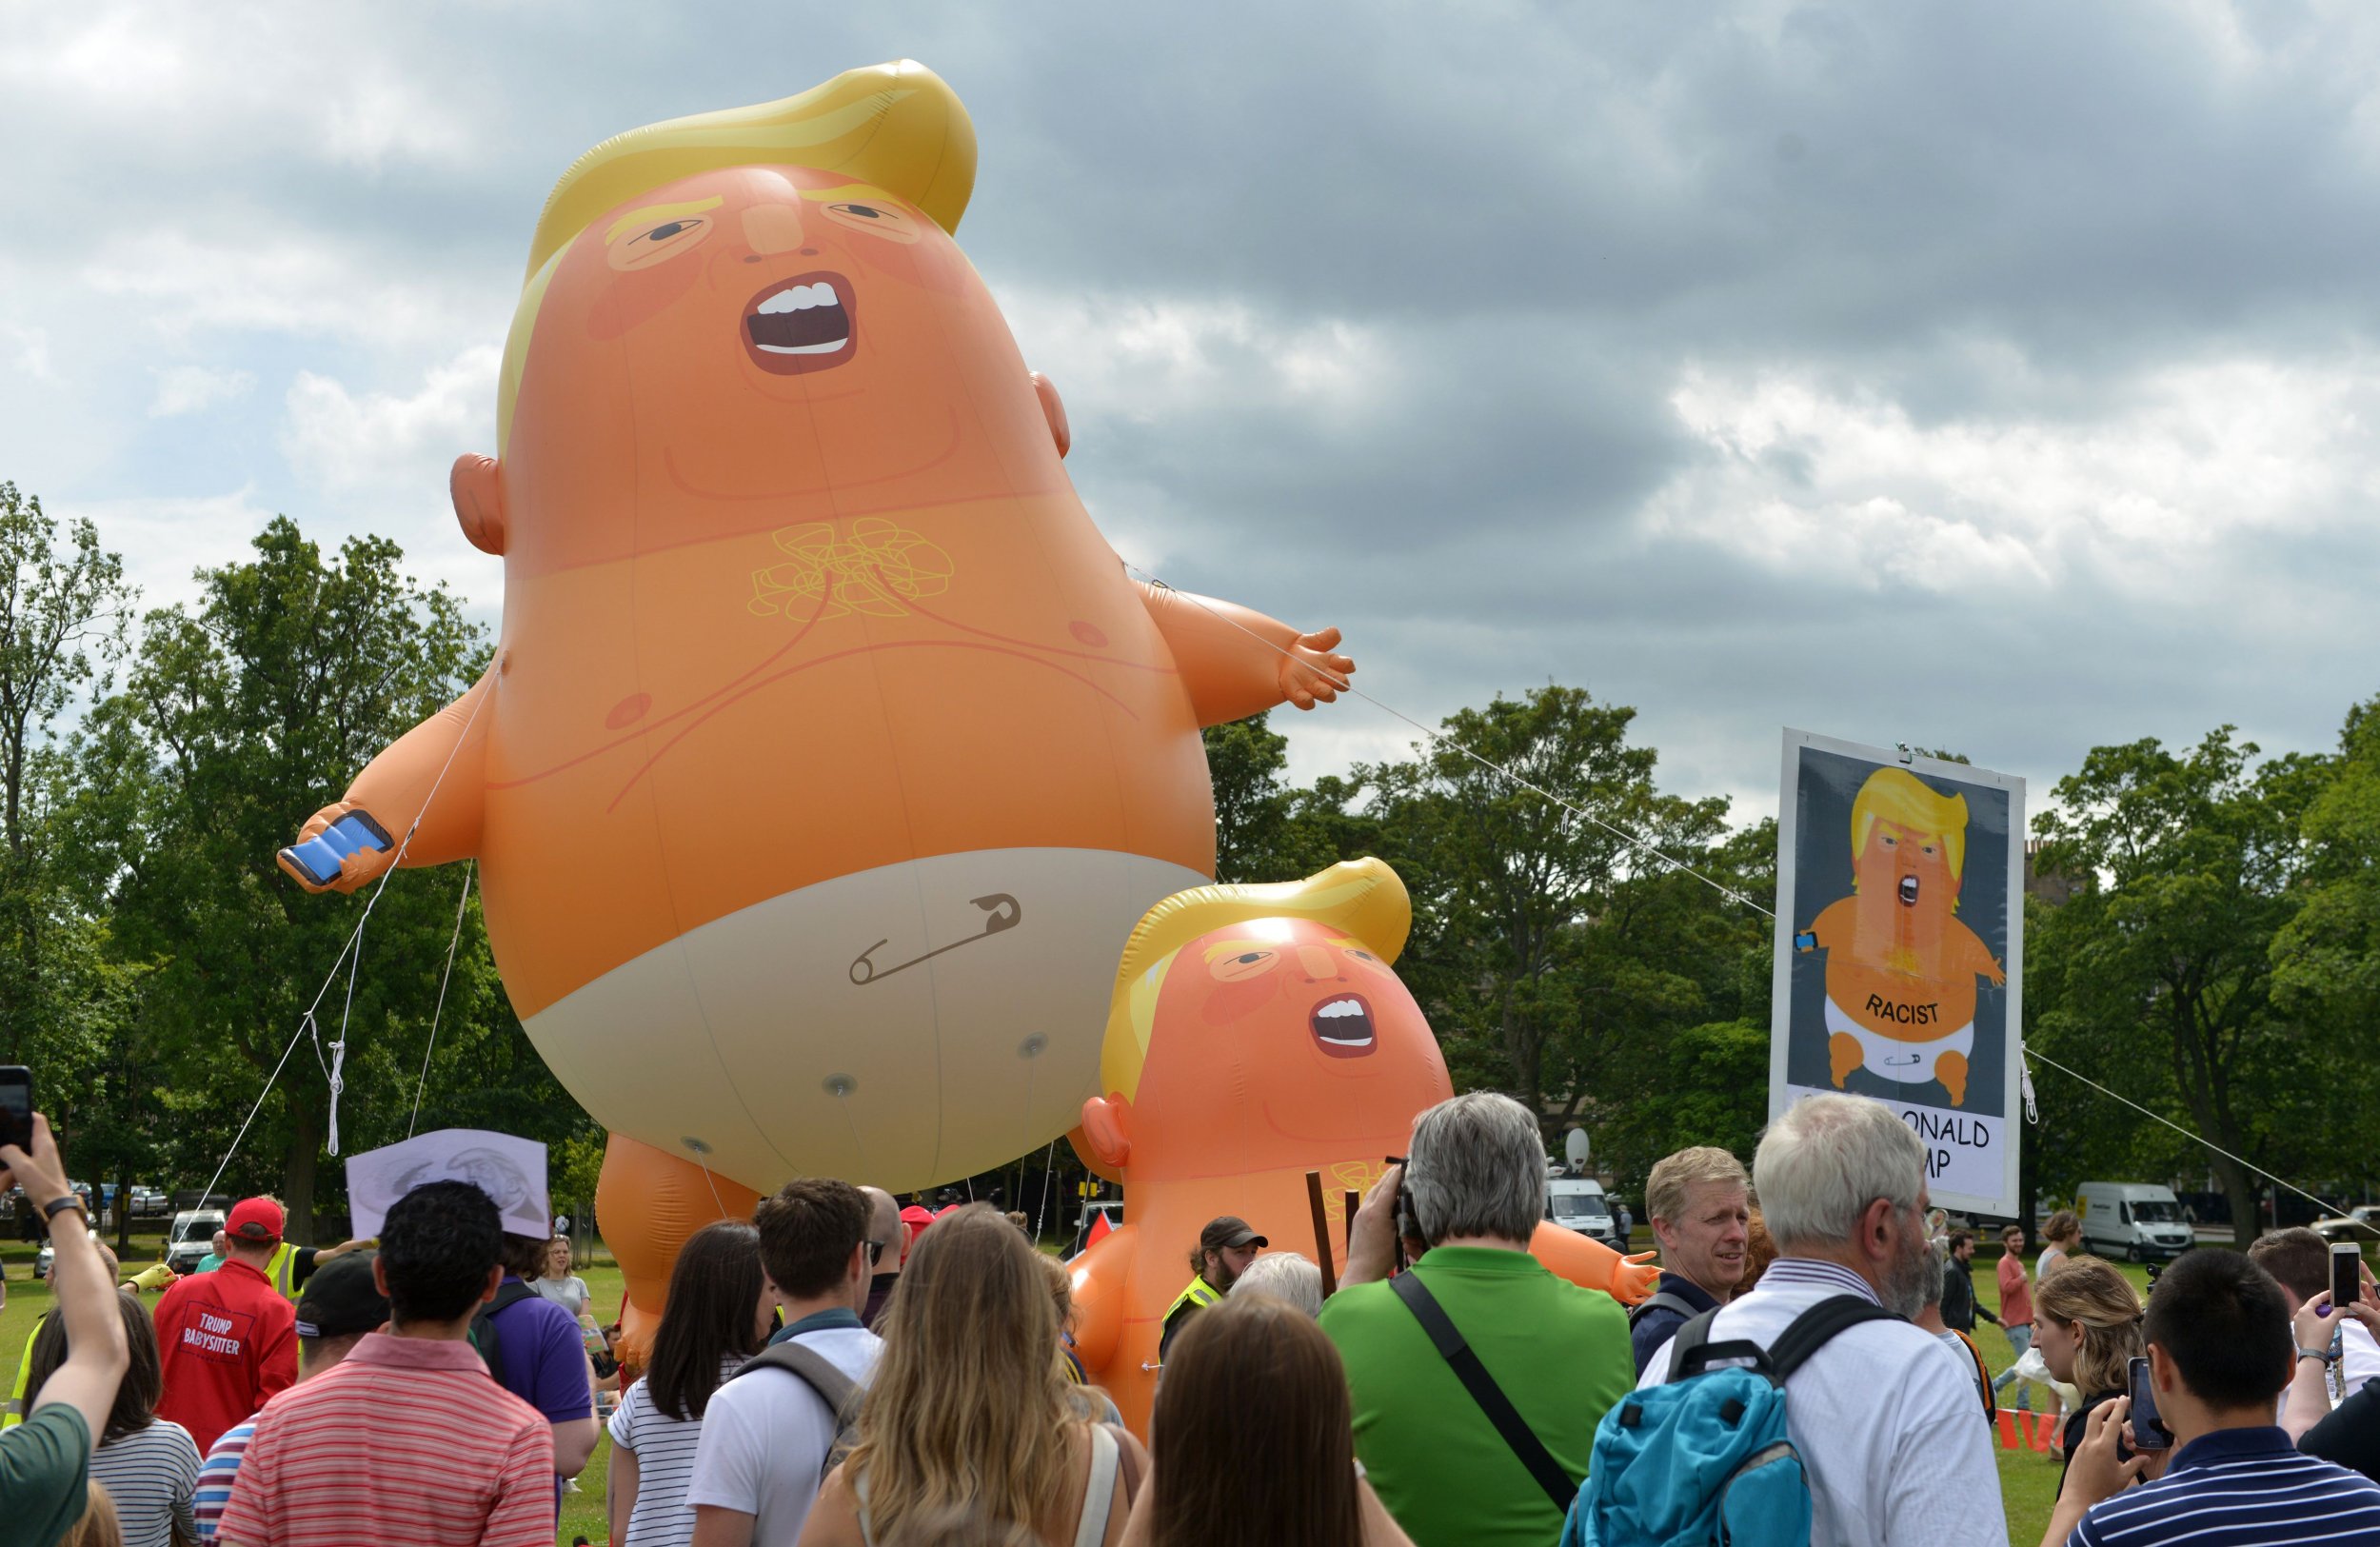
[[[2290,1449],[2280,1428],[2218,1428],[2166,1476],[2094,1504],[2066,1547],[2380,1542],[2380,1483]]]

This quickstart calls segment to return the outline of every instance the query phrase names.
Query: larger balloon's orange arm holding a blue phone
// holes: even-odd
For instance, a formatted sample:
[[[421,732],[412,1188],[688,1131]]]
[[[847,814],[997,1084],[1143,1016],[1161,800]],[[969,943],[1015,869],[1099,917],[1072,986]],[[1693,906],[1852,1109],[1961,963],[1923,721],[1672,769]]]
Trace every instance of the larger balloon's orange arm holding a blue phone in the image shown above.
[[[481,757],[493,719],[481,700],[495,693],[495,671],[490,666],[462,697],[400,735],[393,747],[364,764],[343,800],[314,812],[298,828],[298,843],[309,843],[340,816],[364,812],[390,835],[388,847],[359,847],[326,883],[290,864],[288,850],[281,869],[309,892],[352,892],[378,881],[395,864],[400,847],[407,866],[478,854],[486,790]],[[407,828],[414,828],[412,843],[405,840]]]

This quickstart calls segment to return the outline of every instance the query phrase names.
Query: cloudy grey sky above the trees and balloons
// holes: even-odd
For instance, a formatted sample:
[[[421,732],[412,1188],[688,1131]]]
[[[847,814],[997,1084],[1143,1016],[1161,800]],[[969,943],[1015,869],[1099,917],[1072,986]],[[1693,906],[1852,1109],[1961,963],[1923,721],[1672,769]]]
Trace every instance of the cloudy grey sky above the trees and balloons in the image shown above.
[[[288,512],[493,619],[445,469],[552,178],[902,55],[1116,550],[1418,719],[1578,683],[1749,819],[1785,724],[2040,800],[2380,690],[2356,5],[14,5],[0,478],[152,602]]]

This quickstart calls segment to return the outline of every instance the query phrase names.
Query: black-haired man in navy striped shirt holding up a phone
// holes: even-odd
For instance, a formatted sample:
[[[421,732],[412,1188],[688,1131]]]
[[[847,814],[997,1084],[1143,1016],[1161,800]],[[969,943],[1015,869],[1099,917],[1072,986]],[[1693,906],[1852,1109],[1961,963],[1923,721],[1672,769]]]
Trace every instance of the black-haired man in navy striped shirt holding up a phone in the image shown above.
[[[2149,1295],[2144,1335],[2132,1395],[2097,1407],[2073,1447],[2042,1547],[2380,1540],[2380,1485],[2299,1454],[2273,1423],[2297,1349],[2271,1273],[2185,1252]]]

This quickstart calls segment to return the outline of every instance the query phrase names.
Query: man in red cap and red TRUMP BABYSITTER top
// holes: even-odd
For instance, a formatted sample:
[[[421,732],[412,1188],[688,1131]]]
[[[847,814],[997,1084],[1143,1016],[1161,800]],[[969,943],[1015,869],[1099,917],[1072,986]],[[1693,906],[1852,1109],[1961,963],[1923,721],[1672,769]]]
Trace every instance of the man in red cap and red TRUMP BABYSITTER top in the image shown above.
[[[267,1276],[281,1252],[281,1204],[243,1197],[224,1245],[221,1269],[190,1273],[157,1302],[157,1416],[188,1428],[200,1454],[298,1383],[298,1311]]]

